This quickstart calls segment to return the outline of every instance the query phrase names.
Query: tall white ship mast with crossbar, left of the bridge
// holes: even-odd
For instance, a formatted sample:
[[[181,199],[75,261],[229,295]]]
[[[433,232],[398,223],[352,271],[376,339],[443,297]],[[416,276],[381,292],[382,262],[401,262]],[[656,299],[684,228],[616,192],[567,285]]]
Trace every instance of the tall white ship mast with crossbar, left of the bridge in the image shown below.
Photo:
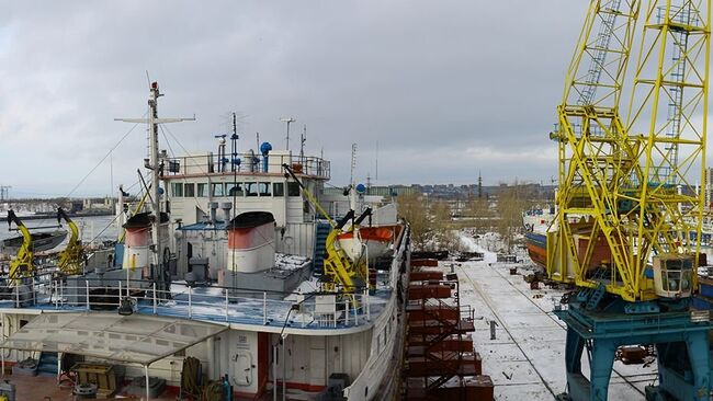
[[[158,154],[158,125],[168,124],[168,123],[180,123],[180,122],[194,122],[195,117],[192,118],[159,118],[158,117],[158,99],[163,94],[159,91],[158,82],[151,82],[150,93],[148,96],[148,118],[114,118],[114,121],[125,122],[125,123],[136,123],[136,124],[148,124],[149,126],[149,160],[146,164],[146,168],[151,171],[151,209],[155,215],[154,227],[151,230],[151,240],[154,243],[154,249],[151,250],[152,262],[156,268],[158,270],[159,283],[165,283],[163,268],[158,268],[161,262],[161,255],[163,254],[163,248],[160,243],[161,237],[159,236],[158,228],[161,220],[161,202],[159,199],[159,181],[161,179],[162,171],[160,169],[160,161]]]

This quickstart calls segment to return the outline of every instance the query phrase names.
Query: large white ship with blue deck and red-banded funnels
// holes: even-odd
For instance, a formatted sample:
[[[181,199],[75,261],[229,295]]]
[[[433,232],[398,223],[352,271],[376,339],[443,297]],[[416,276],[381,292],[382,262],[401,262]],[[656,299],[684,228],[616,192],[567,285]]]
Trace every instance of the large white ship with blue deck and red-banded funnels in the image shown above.
[[[353,183],[325,195],[328,160],[239,151],[235,130],[215,151],[169,156],[158,125],[191,118],[160,118],[161,95],[152,83],[148,116],[123,119],[148,125],[151,174],[138,205],[120,191],[123,240],[80,272],[7,280],[3,371],[101,366],[146,399],[190,393],[196,371],[250,399],[396,398],[410,244],[395,205]],[[109,382],[93,391],[121,391]]]

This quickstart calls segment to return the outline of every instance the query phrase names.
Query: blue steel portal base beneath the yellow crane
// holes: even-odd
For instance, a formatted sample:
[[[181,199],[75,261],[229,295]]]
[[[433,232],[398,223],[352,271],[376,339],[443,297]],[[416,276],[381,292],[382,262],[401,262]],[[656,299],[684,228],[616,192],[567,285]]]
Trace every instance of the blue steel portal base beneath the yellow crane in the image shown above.
[[[631,305],[622,300],[606,310],[589,310],[586,302],[573,302],[555,310],[567,323],[565,365],[567,390],[558,399],[606,401],[614,354],[622,345],[655,344],[658,354],[659,385],[646,387],[647,400],[709,400],[711,391],[711,323],[692,321],[687,301],[664,305],[655,313],[626,313]],[[684,307],[681,308],[680,306]],[[581,373],[587,350],[590,377]]]

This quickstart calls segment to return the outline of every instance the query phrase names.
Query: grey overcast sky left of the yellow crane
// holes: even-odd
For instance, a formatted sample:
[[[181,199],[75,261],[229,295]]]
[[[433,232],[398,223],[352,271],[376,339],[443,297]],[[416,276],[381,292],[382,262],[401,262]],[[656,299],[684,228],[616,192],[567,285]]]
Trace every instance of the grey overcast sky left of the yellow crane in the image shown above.
[[[3,1],[0,184],[13,196],[67,195],[146,113],[148,84],[177,153],[215,149],[237,112],[284,148],[307,125],[307,152],[332,181],[378,184],[547,183],[547,139],[588,2]],[[296,138],[297,135],[293,135]],[[294,149],[297,140],[292,140]],[[166,148],[163,145],[162,148]],[[146,128],[134,129],[76,191],[136,181]],[[111,161],[111,162],[110,162]],[[113,174],[111,174],[113,171]]]

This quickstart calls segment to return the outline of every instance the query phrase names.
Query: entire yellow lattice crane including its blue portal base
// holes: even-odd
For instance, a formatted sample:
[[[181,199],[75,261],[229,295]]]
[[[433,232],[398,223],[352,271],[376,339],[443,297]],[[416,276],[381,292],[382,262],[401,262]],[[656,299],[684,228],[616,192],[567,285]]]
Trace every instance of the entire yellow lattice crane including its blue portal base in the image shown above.
[[[709,400],[711,323],[689,301],[700,251],[709,53],[710,0],[590,2],[550,135],[559,185],[547,274],[578,288],[557,311],[567,323],[562,399],[607,400],[616,348],[655,344],[658,386],[647,387],[646,398]],[[622,102],[627,69],[634,80]],[[620,103],[627,104],[625,119]]]

